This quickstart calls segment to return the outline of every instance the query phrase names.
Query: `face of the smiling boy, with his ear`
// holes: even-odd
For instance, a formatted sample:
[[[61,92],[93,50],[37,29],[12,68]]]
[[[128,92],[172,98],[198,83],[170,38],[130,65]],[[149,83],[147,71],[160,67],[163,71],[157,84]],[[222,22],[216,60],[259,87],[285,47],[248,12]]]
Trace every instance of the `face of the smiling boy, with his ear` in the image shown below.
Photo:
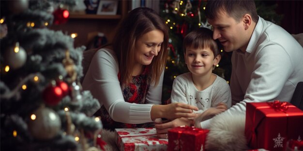
[[[186,47],[184,57],[187,68],[196,76],[212,74],[212,67],[216,66],[221,59],[220,55],[214,57],[210,48],[194,49],[192,47]]]

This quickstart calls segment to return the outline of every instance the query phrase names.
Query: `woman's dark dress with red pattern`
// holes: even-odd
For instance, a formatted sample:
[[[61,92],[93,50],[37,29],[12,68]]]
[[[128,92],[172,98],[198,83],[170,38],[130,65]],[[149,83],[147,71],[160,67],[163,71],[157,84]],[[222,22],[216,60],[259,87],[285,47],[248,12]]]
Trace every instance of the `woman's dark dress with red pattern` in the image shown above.
[[[144,104],[147,92],[150,87],[151,77],[148,74],[149,68],[145,68],[143,73],[137,76],[133,76],[132,83],[122,86],[121,90],[123,93],[124,100],[129,103]],[[119,79],[120,76],[118,75]],[[102,124],[104,129],[114,131],[115,128],[143,128],[143,127],[154,127],[154,123],[144,124],[125,124],[115,122],[108,114],[104,106],[98,110],[95,115],[101,116]]]

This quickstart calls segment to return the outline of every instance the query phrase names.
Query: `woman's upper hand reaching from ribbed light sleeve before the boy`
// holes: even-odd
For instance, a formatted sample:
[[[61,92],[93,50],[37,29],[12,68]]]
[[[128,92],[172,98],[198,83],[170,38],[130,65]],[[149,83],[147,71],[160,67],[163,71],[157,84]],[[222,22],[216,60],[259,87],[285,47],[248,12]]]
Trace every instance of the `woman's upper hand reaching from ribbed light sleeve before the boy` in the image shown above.
[[[152,120],[156,118],[174,120],[181,117],[196,117],[196,114],[193,112],[193,110],[198,110],[198,108],[184,103],[153,105],[151,110],[151,118]]]

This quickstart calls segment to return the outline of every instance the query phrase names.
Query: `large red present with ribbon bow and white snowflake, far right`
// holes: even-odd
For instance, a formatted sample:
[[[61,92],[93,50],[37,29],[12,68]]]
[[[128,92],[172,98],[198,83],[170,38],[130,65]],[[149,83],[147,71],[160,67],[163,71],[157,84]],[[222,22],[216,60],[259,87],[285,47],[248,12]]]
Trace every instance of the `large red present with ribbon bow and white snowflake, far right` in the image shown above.
[[[303,111],[288,102],[246,103],[245,136],[252,149],[285,151],[303,136]]]

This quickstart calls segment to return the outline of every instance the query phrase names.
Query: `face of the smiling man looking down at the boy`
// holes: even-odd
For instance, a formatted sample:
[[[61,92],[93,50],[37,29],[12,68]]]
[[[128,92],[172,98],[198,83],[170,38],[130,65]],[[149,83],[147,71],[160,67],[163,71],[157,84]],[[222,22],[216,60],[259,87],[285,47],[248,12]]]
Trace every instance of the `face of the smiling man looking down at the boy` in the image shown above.
[[[218,12],[218,17],[208,19],[213,26],[214,40],[218,39],[226,52],[241,49],[246,50],[248,42],[245,42],[245,32],[243,20],[237,22],[234,18],[226,14],[224,10]]]

